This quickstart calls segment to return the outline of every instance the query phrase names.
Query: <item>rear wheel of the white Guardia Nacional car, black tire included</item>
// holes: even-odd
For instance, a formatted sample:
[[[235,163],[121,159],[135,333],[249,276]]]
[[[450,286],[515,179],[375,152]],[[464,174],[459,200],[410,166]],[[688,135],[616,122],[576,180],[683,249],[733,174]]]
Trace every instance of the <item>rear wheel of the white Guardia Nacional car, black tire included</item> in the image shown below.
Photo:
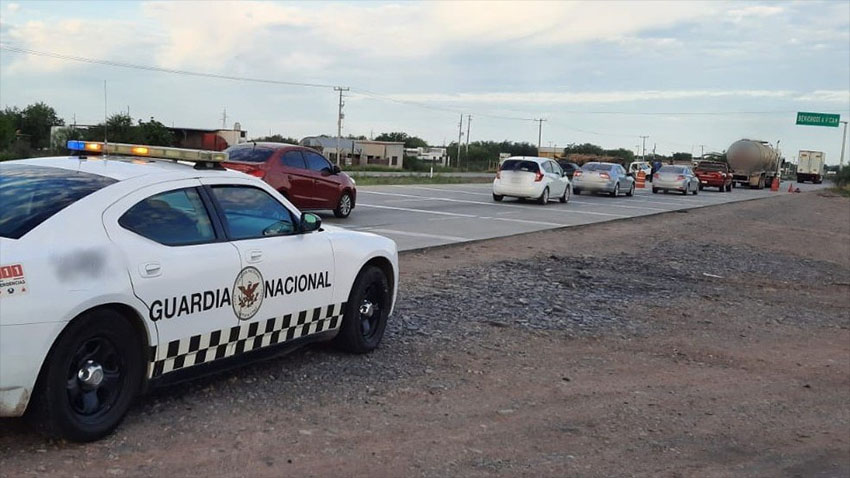
[[[139,333],[122,315],[95,310],[74,320],[56,340],[27,413],[42,433],[88,442],[124,419],[145,373]],[[94,372],[100,369],[100,378]],[[88,379],[83,379],[84,372]]]

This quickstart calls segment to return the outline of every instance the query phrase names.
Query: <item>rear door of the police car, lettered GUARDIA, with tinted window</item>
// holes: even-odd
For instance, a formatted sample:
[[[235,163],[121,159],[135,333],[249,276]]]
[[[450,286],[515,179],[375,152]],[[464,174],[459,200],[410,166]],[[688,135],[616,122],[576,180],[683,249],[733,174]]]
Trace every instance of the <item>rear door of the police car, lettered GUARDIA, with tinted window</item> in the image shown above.
[[[196,179],[169,181],[125,196],[103,215],[159,335],[151,377],[227,357],[235,347],[239,253],[205,196]]]

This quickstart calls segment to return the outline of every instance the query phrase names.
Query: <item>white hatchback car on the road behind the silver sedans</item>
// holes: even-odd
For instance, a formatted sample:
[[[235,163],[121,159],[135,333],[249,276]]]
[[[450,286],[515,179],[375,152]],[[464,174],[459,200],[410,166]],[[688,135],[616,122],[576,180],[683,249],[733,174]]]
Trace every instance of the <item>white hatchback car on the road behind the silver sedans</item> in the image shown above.
[[[493,199],[505,196],[536,199],[540,204],[556,197],[562,203],[570,200],[570,178],[555,161],[534,156],[512,156],[499,165],[493,180]]]

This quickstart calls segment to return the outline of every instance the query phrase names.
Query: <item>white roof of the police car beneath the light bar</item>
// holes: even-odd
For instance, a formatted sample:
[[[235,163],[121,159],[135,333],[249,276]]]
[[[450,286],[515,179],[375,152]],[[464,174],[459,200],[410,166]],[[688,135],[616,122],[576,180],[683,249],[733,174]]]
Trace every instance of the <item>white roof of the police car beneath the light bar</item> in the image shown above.
[[[243,173],[221,169],[195,169],[192,163],[170,159],[128,156],[56,156],[9,161],[8,164],[29,164],[97,174],[123,181],[139,176],[168,175],[184,177],[244,177]]]

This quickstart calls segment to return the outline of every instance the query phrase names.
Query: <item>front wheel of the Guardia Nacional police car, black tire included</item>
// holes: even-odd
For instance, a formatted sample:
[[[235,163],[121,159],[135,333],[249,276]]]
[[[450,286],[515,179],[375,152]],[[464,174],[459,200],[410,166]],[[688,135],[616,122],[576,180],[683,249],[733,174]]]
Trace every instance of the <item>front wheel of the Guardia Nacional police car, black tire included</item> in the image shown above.
[[[348,294],[342,326],[334,344],[355,354],[375,350],[384,336],[389,313],[390,287],[387,276],[381,269],[367,266],[357,275]]]

